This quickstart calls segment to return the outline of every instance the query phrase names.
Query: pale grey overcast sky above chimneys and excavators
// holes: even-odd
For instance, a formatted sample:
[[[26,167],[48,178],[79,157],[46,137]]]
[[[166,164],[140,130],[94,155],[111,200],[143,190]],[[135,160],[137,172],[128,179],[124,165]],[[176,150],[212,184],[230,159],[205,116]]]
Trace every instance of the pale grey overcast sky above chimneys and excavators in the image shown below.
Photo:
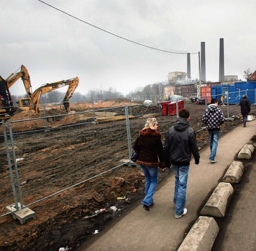
[[[198,76],[198,51],[205,42],[206,81],[218,81],[220,38],[224,38],[225,75],[256,70],[255,0],[0,0],[0,75],[21,65],[32,91],[44,83],[78,77],[76,92],[112,87],[124,95],[165,81],[172,71]],[[58,89],[64,92],[66,87]],[[24,94],[19,80],[10,88]]]

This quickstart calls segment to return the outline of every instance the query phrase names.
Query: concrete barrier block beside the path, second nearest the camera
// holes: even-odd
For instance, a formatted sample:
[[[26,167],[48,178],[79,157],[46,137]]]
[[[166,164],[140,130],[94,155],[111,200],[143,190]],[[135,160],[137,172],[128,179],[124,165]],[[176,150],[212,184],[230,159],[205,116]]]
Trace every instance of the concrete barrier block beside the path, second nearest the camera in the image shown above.
[[[220,182],[200,214],[211,217],[224,217],[233,195],[234,189],[231,184]]]

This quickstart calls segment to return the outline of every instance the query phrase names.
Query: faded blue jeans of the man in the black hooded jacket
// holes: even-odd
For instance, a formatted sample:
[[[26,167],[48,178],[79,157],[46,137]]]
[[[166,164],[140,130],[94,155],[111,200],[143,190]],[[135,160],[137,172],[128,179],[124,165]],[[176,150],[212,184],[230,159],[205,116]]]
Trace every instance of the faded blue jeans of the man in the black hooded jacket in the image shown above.
[[[176,166],[172,164],[175,173],[175,188],[173,202],[176,203],[175,213],[183,214],[186,204],[186,190],[189,166]]]

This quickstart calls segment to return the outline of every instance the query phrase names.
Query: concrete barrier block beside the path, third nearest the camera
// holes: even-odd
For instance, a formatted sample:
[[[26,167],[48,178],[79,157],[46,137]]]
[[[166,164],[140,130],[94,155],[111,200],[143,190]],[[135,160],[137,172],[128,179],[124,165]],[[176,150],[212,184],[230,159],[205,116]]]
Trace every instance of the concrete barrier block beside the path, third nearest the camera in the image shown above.
[[[235,184],[240,182],[244,174],[244,165],[242,162],[233,161],[233,163],[228,168],[222,182],[227,182],[230,184]]]

